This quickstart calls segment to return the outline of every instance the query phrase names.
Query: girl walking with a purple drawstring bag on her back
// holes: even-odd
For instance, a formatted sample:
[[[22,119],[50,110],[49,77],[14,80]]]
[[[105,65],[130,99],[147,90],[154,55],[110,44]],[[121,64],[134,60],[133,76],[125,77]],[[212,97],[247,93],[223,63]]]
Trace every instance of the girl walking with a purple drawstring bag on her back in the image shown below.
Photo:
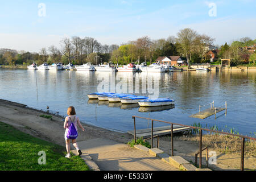
[[[76,143],[76,139],[68,139],[67,138],[68,130],[69,130],[69,127],[71,127],[71,123],[73,123],[73,125],[75,126],[76,131],[77,131],[77,125],[79,125],[79,127],[82,129],[82,131],[84,131],[85,129],[84,129],[84,127],[82,127],[82,125],[79,121],[79,118],[76,115],[76,110],[73,106],[68,107],[67,114],[68,114],[68,116],[65,118],[65,122],[64,122],[64,129],[66,129],[64,137],[65,137],[65,141],[66,141],[66,149],[67,149],[68,154],[65,156],[65,158],[70,158],[70,142],[71,142],[71,140],[72,140],[73,146],[76,148],[79,155],[82,155],[82,152]]]

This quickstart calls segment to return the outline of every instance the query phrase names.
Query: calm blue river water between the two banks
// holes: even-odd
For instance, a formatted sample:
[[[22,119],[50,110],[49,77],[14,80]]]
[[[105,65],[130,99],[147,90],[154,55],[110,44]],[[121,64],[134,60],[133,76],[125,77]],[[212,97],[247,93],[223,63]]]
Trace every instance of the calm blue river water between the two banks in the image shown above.
[[[87,94],[96,91],[171,98],[175,107],[143,109],[88,100]],[[82,122],[123,133],[133,130],[133,115],[185,125],[200,122],[203,127],[217,126],[218,130],[234,128],[252,137],[256,131],[256,72],[108,73],[1,68],[0,98],[35,109],[49,106],[60,115],[75,106]],[[222,111],[216,119],[214,115],[206,119],[189,117],[199,111],[199,105],[213,101],[216,107],[226,101],[227,115]],[[155,122],[154,126],[165,125]],[[150,121],[137,119],[137,129],[147,127],[151,127]]]

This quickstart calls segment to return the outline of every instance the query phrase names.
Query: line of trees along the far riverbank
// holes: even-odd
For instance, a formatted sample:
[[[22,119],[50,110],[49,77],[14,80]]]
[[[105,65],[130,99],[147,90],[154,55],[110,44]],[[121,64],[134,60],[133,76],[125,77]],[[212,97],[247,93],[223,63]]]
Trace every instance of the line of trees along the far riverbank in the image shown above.
[[[207,47],[212,45],[214,38],[205,34],[199,34],[191,28],[184,28],[177,32],[176,36],[169,36],[166,39],[152,40],[148,36],[137,40],[116,44],[102,45],[94,38],[63,38],[60,47],[54,45],[42,48],[37,52],[17,52],[11,49],[0,49],[0,64],[29,65],[33,62],[43,63],[73,63],[73,64],[101,64],[112,61],[115,64],[128,64],[139,61],[153,63],[159,56],[181,56],[192,63],[207,63]],[[243,49],[245,46],[252,46],[256,43],[250,38],[242,38],[234,41],[230,45],[225,43],[218,51],[218,59],[231,58],[234,63],[243,63],[251,60],[251,54]],[[253,58],[252,58],[253,59]]]

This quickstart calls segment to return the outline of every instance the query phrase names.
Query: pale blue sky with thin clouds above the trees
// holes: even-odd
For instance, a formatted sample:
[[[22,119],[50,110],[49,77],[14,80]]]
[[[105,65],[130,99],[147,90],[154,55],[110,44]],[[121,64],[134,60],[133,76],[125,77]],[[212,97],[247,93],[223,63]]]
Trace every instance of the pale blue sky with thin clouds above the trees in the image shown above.
[[[183,28],[231,43],[256,39],[256,0],[0,0],[0,48],[39,52],[72,36],[122,44],[176,36]]]

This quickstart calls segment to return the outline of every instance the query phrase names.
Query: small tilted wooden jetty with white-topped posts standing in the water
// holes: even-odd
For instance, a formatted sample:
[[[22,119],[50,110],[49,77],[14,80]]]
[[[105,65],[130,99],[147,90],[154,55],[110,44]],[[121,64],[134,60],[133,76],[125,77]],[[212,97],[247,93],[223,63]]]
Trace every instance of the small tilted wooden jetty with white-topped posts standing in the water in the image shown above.
[[[204,106],[207,106],[207,105],[210,105],[210,108],[201,111],[201,107],[204,107]],[[222,106],[220,106],[220,107],[214,107],[214,101],[213,101],[212,103],[210,103],[210,104],[207,104],[207,105],[204,105],[204,106],[199,105],[199,113],[192,114],[192,115],[190,115],[189,117],[191,117],[191,118],[205,119],[205,118],[210,117],[211,115],[215,115],[215,119],[216,119],[216,114],[217,114],[217,113],[220,113],[220,112],[223,111],[223,110],[226,110],[226,111],[227,111],[226,102],[225,102],[225,105],[223,105],[223,106],[225,106],[225,108],[223,108]]]

